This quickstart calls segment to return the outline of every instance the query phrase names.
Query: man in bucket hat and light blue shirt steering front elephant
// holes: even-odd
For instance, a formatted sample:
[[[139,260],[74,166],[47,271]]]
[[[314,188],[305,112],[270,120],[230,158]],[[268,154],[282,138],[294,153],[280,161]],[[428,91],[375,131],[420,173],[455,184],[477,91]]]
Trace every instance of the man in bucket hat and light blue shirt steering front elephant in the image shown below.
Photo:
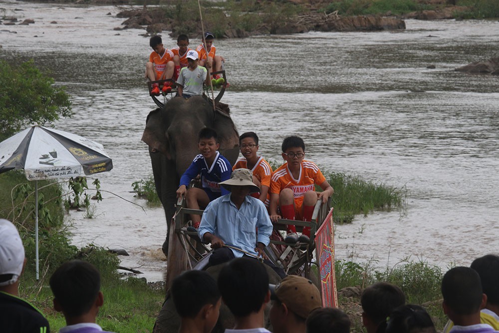
[[[217,265],[243,256],[266,259],[263,249],[270,242],[272,223],[265,205],[249,196],[260,191],[252,182],[251,171],[236,169],[230,179],[219,184],[231,193],[210,202],[198,229],[201,240],[211,243],[214,249],[209,264]]]

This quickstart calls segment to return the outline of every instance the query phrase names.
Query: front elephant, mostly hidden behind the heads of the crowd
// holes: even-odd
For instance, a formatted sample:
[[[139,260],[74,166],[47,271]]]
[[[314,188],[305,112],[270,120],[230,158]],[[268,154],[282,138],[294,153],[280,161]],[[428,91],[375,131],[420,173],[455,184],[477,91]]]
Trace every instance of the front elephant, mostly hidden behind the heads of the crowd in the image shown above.
[[[217,280],[220,271],[225,266],[225,264],[220,264],[216,266],[209,267],[206,271]],[[281,278],[275,273],[269,266],[265,265],[265,269],[268,273],[268,282],[272,285],[276,285],[281,281]],[[268,319],[268,313],[270,310],[270,303],[267,303],[265,308],[265,328],[267,330],[271,329],[270,322]],[[234,316],[225,304],[222,303],[220,307],[220,316],[217,321],[217,325],[213,329],[212,333],[224,333],[226,329],[232,329],[234,327]],[[180,316],[175,310],[172,298],[167,295],[163,307],[161,308],[156,323],[154,324],[153,333],[169,333],[169,332],[179,332],[180,328]]]

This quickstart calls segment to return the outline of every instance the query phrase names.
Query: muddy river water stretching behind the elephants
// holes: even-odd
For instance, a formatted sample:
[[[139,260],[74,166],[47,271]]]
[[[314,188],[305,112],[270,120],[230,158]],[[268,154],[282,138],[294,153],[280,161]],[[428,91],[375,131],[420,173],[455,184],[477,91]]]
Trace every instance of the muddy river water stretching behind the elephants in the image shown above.
[[[145,31],[113,30],[122,21],[115,7],[10,1],[0,7],[35,20],[1,25],[0,57],[34,58],[52,70],[75,111],[57,128],[102,143],[115,165],[99,175],[102,188],[144,206],[104,193],[93,219],[71,214],[73,243],[123,248],[130,253],[123,266],[161,280],[163,210],[129,192],[151,174],[140,141],[154,108],[141,78],[150,52],[139,35]],[[411,256],[442,267],[469,265],[499,252],[499,77],[453,69],[494,56],[499,23],[406,23],[396,32],[218,40],[231,83],[223,100],[240,132],[259,134],[267,159],[279,161],[281,140],[297,134],[323,171],[407,188],[404,210],[336,227],[337,259],[392,266]]]

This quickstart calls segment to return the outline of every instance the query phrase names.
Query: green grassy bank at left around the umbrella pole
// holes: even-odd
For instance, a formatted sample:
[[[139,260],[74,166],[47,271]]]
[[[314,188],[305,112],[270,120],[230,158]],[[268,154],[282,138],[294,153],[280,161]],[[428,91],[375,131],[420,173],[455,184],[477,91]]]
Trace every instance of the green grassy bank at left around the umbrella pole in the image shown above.
[[[12,209],[10,193],[14,187],[22,187],[23,190],[19,191]],[[39,181],[38,187],[39,197],[44,199],[39,205],[45,210],[45,215],[39,220],[40,279],[36,281],[34,195],[25,197],[33,191],[34,182],[27,181],[22,172],[9,171],[0,175],[0,216],[13,220],[21,235],[27,258],[20,278],[19,296],[37,307],[48,319],[51,331],[58,332],[65,326],[65,320],[53,310],[48,280],[62,263],[72,259],[86,260],[97,267],[102,277],[104,306],[99,312],[97,323],[104,330],[112,332],[151,332],[164,300],[164,291],[151,289],[145,279],[123,280],[117,271],[118,257],[106,249],[91,244],[82,249],[70,245],[70,235],[63,222],[61,187],[49,181]]]

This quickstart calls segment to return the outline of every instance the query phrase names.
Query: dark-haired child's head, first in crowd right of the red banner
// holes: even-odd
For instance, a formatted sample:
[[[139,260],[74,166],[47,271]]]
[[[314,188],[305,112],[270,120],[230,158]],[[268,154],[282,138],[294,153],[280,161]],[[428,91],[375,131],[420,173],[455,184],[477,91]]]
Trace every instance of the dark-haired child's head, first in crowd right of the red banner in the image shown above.
[[[397,307],[405,304],[402,290],[387,282],[375,283],[362,292],[362,324],[367,333],[385,332],[386,318]]]

